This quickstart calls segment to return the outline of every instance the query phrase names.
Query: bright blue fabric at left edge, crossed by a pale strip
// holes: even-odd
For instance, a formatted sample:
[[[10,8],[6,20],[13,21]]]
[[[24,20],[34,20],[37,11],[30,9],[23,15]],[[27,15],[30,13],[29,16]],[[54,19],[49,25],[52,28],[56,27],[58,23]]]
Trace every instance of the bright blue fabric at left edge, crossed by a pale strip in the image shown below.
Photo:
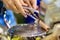
[[[9,25],[11,27],[16,25],[16,20],[14,18],[13,12],[11,10],[6,10],[6,19],[8,20],[8,22],[10,21]],[[0,25],[6,26],[6,24],[4,22],[4,15],[3,15],[3,13],[0,14]]]

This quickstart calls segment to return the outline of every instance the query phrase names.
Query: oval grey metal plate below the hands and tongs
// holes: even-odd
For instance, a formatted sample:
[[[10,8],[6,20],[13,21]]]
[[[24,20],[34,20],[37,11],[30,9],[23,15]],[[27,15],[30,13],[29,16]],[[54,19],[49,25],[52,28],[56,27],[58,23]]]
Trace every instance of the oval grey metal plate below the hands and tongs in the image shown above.
[[[45,35],[46,32],[41,29],[39,26],[38,31],[35,29],[34,25],[16,25],[9,29],[9,34],[13,31],[13,35],[21,36],[21,37],[34,37],[34,36],[42,36]]]

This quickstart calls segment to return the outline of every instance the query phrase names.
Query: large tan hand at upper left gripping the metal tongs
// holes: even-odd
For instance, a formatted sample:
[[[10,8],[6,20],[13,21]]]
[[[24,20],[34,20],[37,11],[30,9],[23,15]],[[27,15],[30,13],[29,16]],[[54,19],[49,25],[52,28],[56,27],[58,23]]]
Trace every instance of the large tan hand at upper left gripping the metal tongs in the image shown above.
[[[15,13],[22,13],[22,15],[26,17],[26,13],[22,5],[27,6],[27,4],[24,3],[23,0],[3,0],[3,3],[7,9],[11,9]]]

